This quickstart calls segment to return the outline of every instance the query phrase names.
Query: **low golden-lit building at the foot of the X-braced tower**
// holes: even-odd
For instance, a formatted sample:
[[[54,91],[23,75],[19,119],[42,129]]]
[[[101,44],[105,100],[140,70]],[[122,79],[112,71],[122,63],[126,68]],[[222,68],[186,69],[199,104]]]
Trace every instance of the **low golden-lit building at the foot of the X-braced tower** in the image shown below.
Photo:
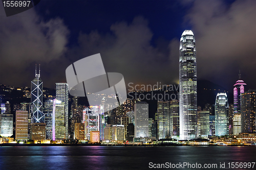
[[[42,141],[46,139],[46,124],[44,123],[33,123],[30,129],[30,139],[37,141]]]

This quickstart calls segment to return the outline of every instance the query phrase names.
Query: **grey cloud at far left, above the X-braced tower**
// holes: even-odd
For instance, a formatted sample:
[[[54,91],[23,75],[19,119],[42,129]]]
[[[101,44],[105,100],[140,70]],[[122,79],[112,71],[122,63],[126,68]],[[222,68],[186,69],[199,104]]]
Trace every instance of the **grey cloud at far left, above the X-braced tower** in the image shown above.
[[[6,17],[0,8],[1,82],[17,84],[35,63],[44,65],[63,57],[69,30],[62,19],[44,21],[33,8]]]

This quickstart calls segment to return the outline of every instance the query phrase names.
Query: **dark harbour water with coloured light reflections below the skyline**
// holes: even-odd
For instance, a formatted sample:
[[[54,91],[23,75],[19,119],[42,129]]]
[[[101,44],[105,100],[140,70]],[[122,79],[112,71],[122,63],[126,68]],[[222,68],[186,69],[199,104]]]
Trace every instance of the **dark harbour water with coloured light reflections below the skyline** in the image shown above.
[[[256,147],[224,146],[0,147],[0,169],[150,169],[149,162],[219,165],[220,162],[255,162],[255,153]]]

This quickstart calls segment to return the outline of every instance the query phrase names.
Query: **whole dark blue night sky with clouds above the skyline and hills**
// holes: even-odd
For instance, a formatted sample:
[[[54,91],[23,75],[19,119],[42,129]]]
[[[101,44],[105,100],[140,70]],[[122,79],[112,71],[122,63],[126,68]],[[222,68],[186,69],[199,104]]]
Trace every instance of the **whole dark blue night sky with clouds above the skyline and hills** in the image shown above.
[[[126,85],[178,83],[179,40],[192,30],[198,79],[230,90],[240,69],[246,88],[256,88],[254,0],[41,1],[9,17],[0,10],[1,84],[30,86],[37,63],[44,87],[54,88],[70,64],[97,53]]]

